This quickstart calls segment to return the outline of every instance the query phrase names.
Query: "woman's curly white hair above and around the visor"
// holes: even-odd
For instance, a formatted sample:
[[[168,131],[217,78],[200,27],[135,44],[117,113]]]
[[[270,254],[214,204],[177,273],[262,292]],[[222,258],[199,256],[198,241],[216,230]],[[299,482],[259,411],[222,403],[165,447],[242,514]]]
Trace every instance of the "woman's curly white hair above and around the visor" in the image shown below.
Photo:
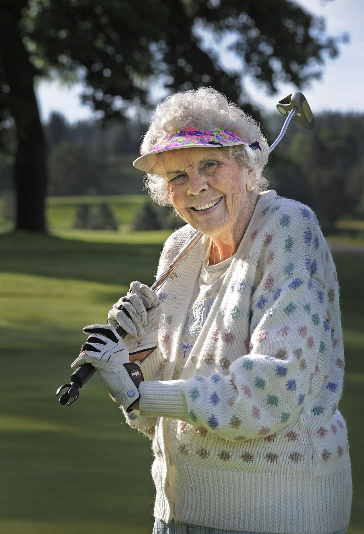
[[[262,176],[269,155],[266,138],[250,115],[233,102],[228,102],[225,95],[212,87],[175,93],[159,104],[140,145],[140,154],[147,154],[170,131],[187,126],[196,130],[228,130],[248,144],[258,141],[261,151],[253,151],[244,145],[227,146],[223,150],[228,150],[241,167],[256,171],[255,189],[258,193],[267,189],[268,180]],[[144,176],[149,197],[153,202],[167,206],[171,204],[171,200],[161,164],[157,163],[152,170],[153,173]]]

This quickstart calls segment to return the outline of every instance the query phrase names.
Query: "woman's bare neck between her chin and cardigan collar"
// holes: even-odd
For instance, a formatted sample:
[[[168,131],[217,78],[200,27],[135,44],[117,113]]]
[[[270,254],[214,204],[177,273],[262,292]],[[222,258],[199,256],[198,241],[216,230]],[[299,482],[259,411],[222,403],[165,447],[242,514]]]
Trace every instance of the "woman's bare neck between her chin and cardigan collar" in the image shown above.
[[[244,213],[239,220],[239,223],[234,227],[229,228],[227,231],[218,235],[211,235],[212,246],[210,251],[209,265],[215,265],[216,263],[223,262],[233,256],[238,250],[240,242],[244,233],[250,223],[252,214],[259,199],[258,193],[251,193],[249,195],[248,205],[244,206]],[[215,244],[215,247],[213,246]],[[215,262],[213,261],[213,253],[215,248]]]

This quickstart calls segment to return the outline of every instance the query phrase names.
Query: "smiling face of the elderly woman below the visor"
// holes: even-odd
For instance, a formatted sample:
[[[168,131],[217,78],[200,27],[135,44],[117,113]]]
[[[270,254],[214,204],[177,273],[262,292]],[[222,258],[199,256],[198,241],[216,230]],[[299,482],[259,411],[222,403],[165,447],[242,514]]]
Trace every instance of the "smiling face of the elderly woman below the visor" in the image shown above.
[[[180,148],[161,153],[168,194],[185,221],[223,241],[240,240],[251,217],[255,172],[226,149]]]

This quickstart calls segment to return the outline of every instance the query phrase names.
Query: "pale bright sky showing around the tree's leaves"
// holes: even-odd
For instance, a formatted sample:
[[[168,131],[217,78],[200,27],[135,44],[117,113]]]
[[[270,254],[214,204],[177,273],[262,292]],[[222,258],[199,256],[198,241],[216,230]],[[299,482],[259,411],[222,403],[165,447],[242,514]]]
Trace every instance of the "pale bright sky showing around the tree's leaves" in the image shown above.
[[[327,58],[321,80],[313,81],[310,87],[301,90],[313,113],[321,111],[364,112],[364,2],[362,0],[295,0],[304,9],[325,17],[327,33],[339,36],[350,35],[350,42],[340,45],[337,59]],[[224,53],[223,62],[234,65],[233,54]],[[252,102],[267,111],[273,111],[281,98],[297,88],[281,84],[274,96],[268,96],[258,88],[254,80],[246,78],[245,86]],[[41,82],[36,90],[43,122],[52,111],[62,113],[70,122],[92,119],[89,106],[82,105],[81,84],[62,87],[58,82]]]

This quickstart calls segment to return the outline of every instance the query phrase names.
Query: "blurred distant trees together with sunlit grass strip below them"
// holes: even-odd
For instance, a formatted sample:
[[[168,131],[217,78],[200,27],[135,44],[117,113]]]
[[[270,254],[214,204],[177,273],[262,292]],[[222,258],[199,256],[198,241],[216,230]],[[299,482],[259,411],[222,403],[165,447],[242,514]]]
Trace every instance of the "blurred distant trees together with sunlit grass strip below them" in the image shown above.
[[[265,115],[265,133],[270,144],[278,135],[283,120],[278,112]],[[62,115],[51,115],[44,127],[48,144],[50,229],[55,225],[73,225],[75,228],[117,230],[122,224],[132,223],[136,230],[159,230],[181,224],[171,208],[152,203],[144,206],[148,200],[143,192],[143,175],[133,168],[132,161],[138,155],[140,136],[147,128],[147,123],[138,120],[126,120],[105,128],[88,121],[69,124]],[[15,143],[13,129],[2,133],[5,146],[12,146]],[[362,114],[322,113],[316,116],[312,131],[305,131],[292,122],[265,170],[270,187],[310,206],[326,235],[345,231],[364,237],[360,224],[343,226],[342,223],[343,220],[359,222],[364,217],[363,138]],[[0,197],[3,199],[0,214],[8,227],[15,225],[12,164],[12,154],[3,149],[0,152]],[[118,198],[119,195],[143,193],[145,197],[140,199],[123,201]],[[98,200],[85,200],[85,195]],[[110,195],[116,196],[106,199]],[[69,196],[78,198],[68,201],[56,198]],[[105,206],[96,210],[92,207],[96,201]]]

